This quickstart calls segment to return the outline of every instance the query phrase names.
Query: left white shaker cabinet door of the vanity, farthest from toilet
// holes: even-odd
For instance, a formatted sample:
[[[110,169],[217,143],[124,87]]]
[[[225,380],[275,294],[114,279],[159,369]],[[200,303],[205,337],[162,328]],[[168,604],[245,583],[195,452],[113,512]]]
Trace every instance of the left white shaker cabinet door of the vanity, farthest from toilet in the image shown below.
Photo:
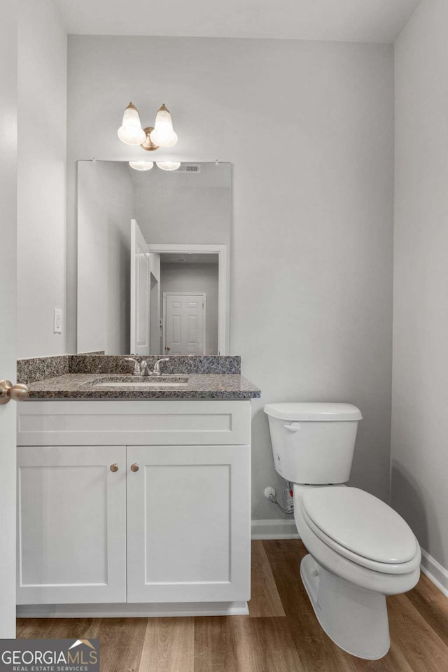
[[[18,448],[18,604],[126,601],[125,456]]]

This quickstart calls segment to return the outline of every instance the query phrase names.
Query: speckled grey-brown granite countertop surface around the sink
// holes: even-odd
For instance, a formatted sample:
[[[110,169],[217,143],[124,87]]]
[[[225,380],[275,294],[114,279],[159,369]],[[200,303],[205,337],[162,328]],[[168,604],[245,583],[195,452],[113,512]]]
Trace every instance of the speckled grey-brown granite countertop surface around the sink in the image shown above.
[[[29,399],[250,399],[261,396],[260,390],[239,374],[188,374],[187,384],[172,388],[104,386],[114,379],[123,380],[123,374],[68,373],[46,378],[29,384]],[[131,375],[129,379],[132,381]],[[102,387],[94,387],[98,381],[103,382]]]

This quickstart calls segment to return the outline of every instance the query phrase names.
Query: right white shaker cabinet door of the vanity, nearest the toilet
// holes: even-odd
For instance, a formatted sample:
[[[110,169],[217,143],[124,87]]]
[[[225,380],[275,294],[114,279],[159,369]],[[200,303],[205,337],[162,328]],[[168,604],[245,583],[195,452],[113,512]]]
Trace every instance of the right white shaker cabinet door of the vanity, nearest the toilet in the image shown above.
[[[127,601],[248,600],[250,447],[128,447],[127,468]]]

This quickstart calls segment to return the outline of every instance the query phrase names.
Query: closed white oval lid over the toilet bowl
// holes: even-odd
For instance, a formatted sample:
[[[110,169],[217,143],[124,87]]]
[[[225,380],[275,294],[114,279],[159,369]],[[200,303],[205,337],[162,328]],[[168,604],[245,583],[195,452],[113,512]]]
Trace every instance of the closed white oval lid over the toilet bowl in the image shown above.
[[[358,488],[323,487],[303,494],[311,521],[342,547],[382,563],[412,560],[417,542],[409,525],[390,506]]]

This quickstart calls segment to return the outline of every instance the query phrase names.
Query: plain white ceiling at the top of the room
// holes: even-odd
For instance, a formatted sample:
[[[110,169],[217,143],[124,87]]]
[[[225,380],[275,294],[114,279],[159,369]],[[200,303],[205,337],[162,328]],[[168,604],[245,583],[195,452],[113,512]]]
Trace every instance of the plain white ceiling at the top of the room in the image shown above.
[[[393,42],[419,0],[56,0],[85,35]]]

